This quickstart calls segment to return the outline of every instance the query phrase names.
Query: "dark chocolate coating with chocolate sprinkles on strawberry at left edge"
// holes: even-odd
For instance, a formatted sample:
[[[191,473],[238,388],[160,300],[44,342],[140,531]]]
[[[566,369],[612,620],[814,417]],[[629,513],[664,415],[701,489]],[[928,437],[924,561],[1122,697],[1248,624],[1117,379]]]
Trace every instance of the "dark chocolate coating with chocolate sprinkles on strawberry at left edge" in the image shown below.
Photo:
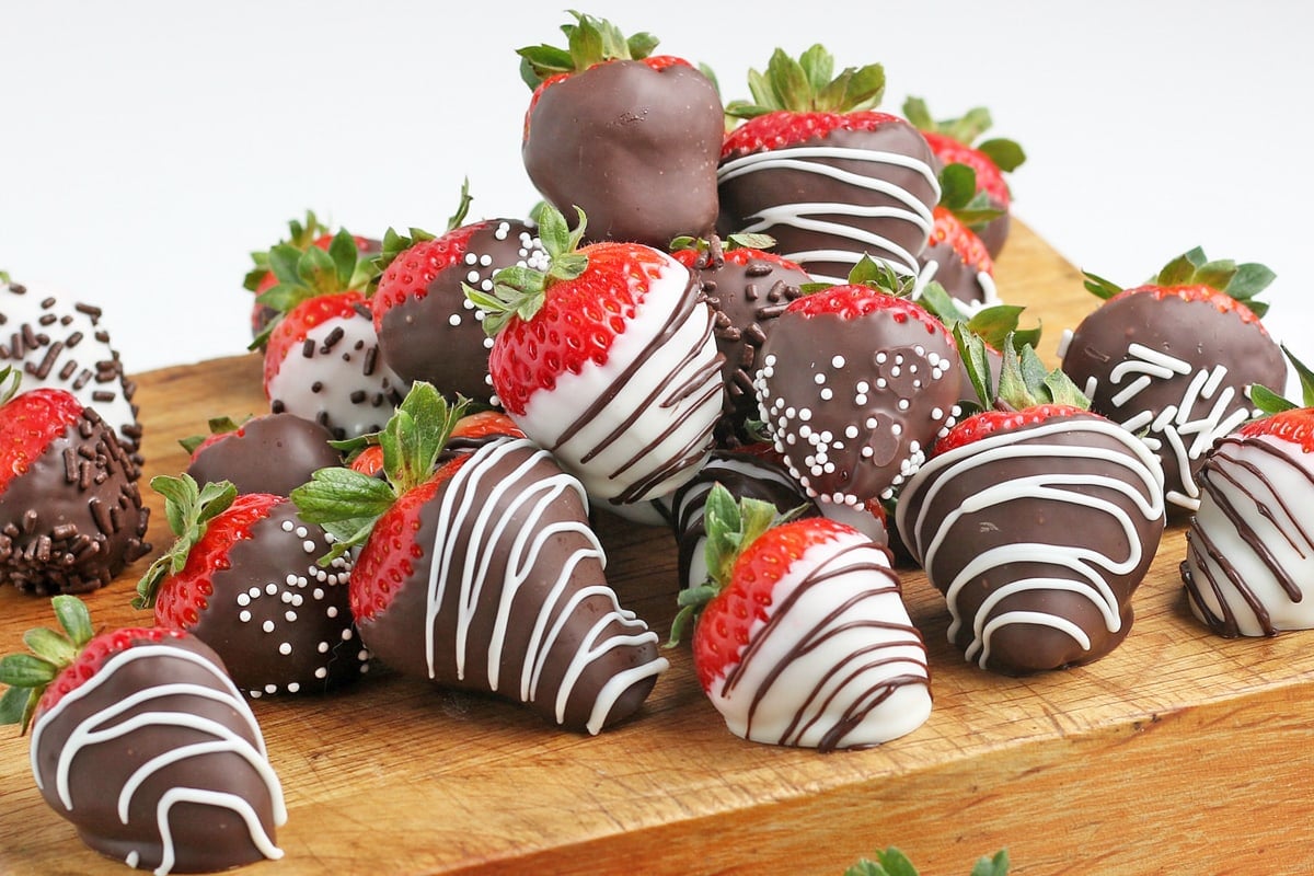
[[[92,408],[0,493],[0,583],[39,596],[104,587],[143,557],[138,468]]]

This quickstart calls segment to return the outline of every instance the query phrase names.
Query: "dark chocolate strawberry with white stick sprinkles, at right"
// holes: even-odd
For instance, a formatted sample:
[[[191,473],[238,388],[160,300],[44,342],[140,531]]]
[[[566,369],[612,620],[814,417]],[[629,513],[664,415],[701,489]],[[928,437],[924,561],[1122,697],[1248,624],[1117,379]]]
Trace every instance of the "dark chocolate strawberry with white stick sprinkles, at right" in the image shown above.
[[[1198,248],[1134,288],[1087,274],[1105,301],[1064,339],[1063,370],[1091,410],[1159,456],[1171,510],[1198,507],[1205,452],[1259,412],[1250,387],[1286,383],[1282,351],[1260,322],[1267,307],[1255,301],[1272,278]]]

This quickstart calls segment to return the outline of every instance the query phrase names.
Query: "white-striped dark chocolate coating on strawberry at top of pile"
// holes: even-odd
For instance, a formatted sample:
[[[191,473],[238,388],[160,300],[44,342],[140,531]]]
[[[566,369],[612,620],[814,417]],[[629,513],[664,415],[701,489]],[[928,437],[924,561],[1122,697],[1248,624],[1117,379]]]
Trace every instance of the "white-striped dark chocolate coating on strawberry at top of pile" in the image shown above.
[[[817,151],[830,147],[840,155]],[[899,118],[729,156],[719,171],[717,231],[769,234],[817,280],[842,282],[863,253],[913,276],[940,201],[934,162],[921,133]]]

